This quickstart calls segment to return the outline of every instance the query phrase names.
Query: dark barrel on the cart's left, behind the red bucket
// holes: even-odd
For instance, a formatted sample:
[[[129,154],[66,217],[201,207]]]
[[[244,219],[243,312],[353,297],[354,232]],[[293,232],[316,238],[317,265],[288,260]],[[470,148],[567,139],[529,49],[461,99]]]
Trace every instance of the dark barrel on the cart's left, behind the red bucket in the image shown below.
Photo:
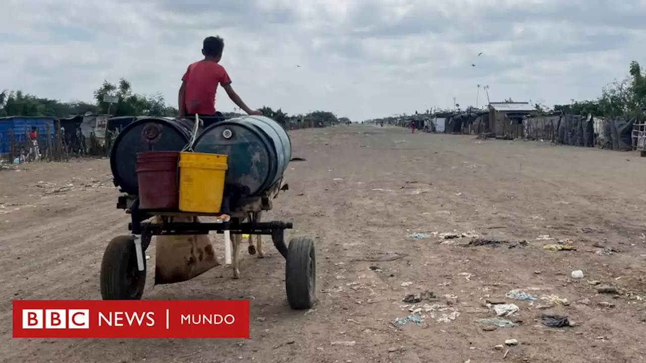
[[[141,116],[126,126],[112,145],[110,169],[114,185],[139,194],[137,154],[142,151],[181,151],[191,140],[194,119]]]

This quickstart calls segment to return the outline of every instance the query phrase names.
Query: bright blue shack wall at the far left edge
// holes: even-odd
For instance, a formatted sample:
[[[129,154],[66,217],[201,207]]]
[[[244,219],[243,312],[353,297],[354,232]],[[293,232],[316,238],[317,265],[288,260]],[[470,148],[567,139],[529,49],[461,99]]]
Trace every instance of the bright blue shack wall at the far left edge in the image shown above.
[[[47,145],[47,129],[50,135],[54,135],[53,117],[26,117],[26,116],[9,116],[0,118],[0,154],[8,154],[12,151],[10,148],[12,142],[14,147],[27,147],[27,132],[36,127],[38,134],[38,145],[41,152]],[[11,131],[10,131],[11,130]],[[13,136],[10,136],[12,135]],[[11,140],[13,138],[13,141]],[[50,140],[52,140],[50,138]]]

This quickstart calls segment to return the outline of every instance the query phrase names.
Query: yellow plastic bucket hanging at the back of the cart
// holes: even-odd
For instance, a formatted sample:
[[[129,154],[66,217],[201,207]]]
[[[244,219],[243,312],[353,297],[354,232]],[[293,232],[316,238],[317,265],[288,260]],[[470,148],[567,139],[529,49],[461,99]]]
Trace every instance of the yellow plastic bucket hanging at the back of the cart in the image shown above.
[[[180,152],[180,211],[220,213],[227,156]]]

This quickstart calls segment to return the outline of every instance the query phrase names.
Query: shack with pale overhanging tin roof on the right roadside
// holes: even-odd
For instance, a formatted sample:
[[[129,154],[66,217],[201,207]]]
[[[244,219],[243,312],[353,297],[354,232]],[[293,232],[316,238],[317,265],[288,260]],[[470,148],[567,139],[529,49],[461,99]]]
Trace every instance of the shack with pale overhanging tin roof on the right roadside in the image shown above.
[[[529,102],[492,102],[489,103],[490,132],[496,138],[505,140],[523,137],[523,118],[535,116],[536,107]]]

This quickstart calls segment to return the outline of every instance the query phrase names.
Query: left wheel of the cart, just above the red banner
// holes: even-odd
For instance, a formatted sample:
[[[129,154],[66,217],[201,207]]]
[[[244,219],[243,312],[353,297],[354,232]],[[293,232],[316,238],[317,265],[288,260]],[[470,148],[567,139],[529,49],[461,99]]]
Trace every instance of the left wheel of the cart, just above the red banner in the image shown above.
[[[146,260],[143,271],[137,268],[133,236],[113,238],[101,261],[101,296],[103,300],[140,300],[146,285]]]

